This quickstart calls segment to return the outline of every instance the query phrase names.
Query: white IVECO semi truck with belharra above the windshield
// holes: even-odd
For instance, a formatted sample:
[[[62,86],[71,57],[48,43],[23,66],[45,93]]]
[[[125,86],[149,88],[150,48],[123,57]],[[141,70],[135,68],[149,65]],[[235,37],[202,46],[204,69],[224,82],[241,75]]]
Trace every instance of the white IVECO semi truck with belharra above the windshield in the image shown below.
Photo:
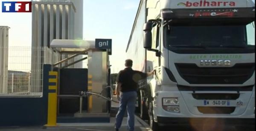
[[[255,3],[140,0],[126,49],[151,128],[255,127]]]

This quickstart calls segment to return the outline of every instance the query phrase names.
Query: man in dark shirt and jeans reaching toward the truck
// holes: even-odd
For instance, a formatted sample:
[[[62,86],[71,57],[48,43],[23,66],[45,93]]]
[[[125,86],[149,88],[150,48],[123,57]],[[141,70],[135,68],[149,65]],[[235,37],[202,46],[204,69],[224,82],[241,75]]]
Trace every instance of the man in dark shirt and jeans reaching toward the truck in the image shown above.
[[[132,64],[133,61],[131,59],[125,60],[126,68],[120,71],[117,77],[116,95],[119,98],[119,111],[116,114],[116,131],[121,127],[126,107],[128,113],[128,130],[134,131],[138,81],[147,78],[147,76],[154,75],[154,70],[148,73],[132,70]]]

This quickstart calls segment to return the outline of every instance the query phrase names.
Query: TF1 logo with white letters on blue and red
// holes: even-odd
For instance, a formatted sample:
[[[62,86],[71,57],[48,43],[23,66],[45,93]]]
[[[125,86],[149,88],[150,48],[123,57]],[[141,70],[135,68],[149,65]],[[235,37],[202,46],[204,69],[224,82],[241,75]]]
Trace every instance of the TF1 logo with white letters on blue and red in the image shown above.
[[[3,1],[2,12],[32,12],[32,2]]]

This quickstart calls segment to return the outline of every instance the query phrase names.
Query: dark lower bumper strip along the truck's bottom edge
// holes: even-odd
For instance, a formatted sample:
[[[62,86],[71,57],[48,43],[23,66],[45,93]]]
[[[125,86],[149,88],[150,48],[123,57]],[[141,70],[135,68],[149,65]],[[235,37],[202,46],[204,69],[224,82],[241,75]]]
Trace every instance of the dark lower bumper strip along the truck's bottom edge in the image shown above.
[[[255,118],[179,118],[157,117],[160,126],[195,126],[195,125],[218,125],[225,126],[255,126]]]

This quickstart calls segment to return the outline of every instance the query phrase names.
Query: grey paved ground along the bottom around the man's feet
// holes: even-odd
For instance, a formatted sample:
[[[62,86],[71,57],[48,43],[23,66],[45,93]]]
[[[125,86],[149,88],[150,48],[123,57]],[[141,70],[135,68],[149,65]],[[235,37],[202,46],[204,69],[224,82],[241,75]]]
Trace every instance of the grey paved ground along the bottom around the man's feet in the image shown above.
[[[111,113],[111,123],[58,123],[57,127],[0,127],[0,131],[114,131],[115,114],[118,103],[112,103],[113,112]],[[119,131],[127,131],[127,118],[124,118],[122,128]],[[147,122],[136,117],[135,131],[151,131]],[[164,127],[159,131],[192,131],[190,128]],[[197,127],[194,131],[238,131],[234,127]],[[241,131],[254,131],[252,128],[244,128]]]

